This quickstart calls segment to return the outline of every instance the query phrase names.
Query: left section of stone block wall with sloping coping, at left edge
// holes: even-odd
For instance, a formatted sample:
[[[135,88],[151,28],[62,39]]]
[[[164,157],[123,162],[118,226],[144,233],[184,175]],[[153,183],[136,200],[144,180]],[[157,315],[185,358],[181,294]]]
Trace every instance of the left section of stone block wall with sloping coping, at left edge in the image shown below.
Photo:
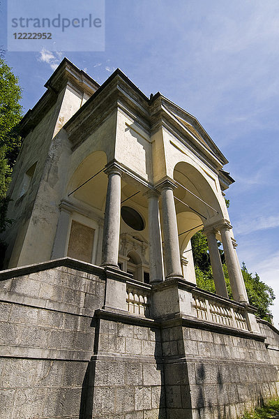
[[[1,419],[80,418],[105,280],[52,265],[0,274]]]

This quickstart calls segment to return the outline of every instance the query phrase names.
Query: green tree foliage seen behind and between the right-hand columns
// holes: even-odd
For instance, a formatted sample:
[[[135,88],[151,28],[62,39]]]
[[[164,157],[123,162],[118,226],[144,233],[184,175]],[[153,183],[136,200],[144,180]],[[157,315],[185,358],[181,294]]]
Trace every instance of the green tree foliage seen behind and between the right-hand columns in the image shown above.
[[[193,235],[192,239],[192,250],[195,264],[195,274],[197,278],[197,286],[211,293],[215,293],[215,284],[213,281],[213,273],[210,265],[209,247],[205,235],[201,232],[197,232]],[[220,242],[218,242],[220,247]],[[223,271],[225,282],[227,285],[227,292],[229,298],[232,299],[232,288],[229,284],[229,275],[227,273],[227,266],[225,265],[225,258],[223,250],[219,249],[220,257],[223,262]],[[260,281],[259,275],[256,273],[255,276],[248,269],[243,262],[241,272],[246,285],[248,299],[250,304],[257,308],[257,316],[264,318],[264,320],[270,321],[271,311],[269,307],[273,304],[275,295],[273,289],[270,286]]]

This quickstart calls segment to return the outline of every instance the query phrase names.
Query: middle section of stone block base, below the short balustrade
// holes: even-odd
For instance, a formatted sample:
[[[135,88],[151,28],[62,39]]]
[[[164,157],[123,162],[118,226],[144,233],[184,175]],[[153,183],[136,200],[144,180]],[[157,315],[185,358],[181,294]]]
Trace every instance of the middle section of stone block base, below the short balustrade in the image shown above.
[[[84,419],[165,419],[160,329],[138,319],[102,318],[89,368]],[[114,318],[114,319],[113,319]],[[133,324],[133,320],[135,323]]]

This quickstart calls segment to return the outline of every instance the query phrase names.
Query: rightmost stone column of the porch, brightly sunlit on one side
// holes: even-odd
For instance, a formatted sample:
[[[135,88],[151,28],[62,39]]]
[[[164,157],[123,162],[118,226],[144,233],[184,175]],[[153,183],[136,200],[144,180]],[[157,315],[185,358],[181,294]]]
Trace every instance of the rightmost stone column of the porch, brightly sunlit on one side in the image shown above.
[[[229,282],[232,286],[232,295],[234,300],[238,302],[248,302],[248,296],[241,270],[239,269],[239,262],[237,260],[236,251],[234,250],[232,237],[229,233],[231,228],[232,226],[230,226],[229,223],[223,223],[219,227],[222,236],[223,249],[225,252],[227,272],[229,274]]]

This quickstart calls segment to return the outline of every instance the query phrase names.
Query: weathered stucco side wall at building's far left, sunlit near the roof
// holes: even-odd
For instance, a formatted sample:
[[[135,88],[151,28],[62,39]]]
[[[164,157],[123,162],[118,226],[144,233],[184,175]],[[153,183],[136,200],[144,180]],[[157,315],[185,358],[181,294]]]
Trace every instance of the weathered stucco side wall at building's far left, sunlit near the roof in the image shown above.
[[[80,108],[82,97],[82,91],[67,84],[47,115],[24,138],[8,192],[12,199],[8,207],[8,218],[15,221],[3,235],[3,240],[9,244],[5,266],[9,263],[10,267],[15,267],[50,259],[51,249],[47,249],[47,240],[38,246],[34,237],[40,237],[40,225],[43,233],[48,231],[55,234],[56,223],[47,223],[47,214],[50,216],[57,211],[53,205],[54,197],[59,196],[61,200],[61,186],[64,186],[70,149],[65,133],[56,134]],[[36,169],[31,183],[21,196],[24,174],[34,163]],[[50,200],[45,200],[45,196],[49,194]],[[49,203],[52,205],[47,205]],[[36,234],[33,232],[34,228]]]

